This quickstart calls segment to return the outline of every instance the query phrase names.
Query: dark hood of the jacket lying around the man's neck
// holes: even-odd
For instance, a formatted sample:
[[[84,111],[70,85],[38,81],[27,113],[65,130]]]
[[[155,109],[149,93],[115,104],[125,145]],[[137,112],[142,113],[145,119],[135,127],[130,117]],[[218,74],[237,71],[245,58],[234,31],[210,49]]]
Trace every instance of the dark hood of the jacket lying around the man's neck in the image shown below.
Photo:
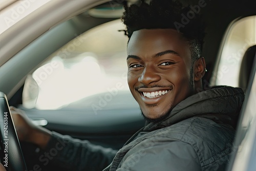
[[[147,123],[143,131],[158,130],[194,116],[236,127],[243,101],[244,92],[240,88],[214,87],[189,96],[177,104],[164,120]]]

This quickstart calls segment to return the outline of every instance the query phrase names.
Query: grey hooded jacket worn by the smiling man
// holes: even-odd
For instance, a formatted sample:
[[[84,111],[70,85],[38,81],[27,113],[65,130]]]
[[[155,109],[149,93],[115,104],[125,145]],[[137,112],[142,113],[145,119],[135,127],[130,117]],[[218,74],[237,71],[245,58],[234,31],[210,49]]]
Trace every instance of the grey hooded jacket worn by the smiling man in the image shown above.
[[[70,170],[101,170],[109,163],[104,171],[224,170],[243,100],[239,88],[216,87],[181,101],[165,120],[147,123],[118,152],[57,133],[46,151],[63,144],[53,162]]]

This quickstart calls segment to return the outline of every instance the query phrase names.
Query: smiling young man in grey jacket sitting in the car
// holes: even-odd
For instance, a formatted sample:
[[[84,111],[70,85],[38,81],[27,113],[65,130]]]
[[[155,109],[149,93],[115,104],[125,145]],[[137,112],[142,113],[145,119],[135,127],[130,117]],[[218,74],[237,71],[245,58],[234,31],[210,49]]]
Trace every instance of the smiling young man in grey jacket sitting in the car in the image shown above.
[[[19,139],[45,154],[58,149],[44,162],[67,170],[224,170],[244,93],[202,91],[203,26],[197,15],[179,25],[189,10],[167,0],[125,7],[128,83],[146,125],[118,152],[34,126],[12,109]]]

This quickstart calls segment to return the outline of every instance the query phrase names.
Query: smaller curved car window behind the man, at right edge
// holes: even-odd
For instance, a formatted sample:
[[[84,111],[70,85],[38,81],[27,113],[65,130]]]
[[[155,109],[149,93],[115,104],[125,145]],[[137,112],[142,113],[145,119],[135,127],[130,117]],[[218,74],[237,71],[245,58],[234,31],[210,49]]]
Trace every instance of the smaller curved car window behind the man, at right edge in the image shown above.
[[[253,45],[256,45],[256,16],[233,23],[224,40],[219,67],[212,83],[238,87],[243,55]]]

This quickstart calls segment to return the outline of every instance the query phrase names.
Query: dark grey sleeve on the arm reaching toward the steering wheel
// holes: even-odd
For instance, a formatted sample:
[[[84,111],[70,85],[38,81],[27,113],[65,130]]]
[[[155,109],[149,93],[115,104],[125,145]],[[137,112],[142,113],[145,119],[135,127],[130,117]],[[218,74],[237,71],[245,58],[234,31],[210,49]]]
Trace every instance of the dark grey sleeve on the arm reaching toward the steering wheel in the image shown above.
[[[58,165],[61,170],[102,170],[108,166],[117,151],[91,144],[87,140],[74,139],[52,132],[44,158],[39,160],[47,165]]]

